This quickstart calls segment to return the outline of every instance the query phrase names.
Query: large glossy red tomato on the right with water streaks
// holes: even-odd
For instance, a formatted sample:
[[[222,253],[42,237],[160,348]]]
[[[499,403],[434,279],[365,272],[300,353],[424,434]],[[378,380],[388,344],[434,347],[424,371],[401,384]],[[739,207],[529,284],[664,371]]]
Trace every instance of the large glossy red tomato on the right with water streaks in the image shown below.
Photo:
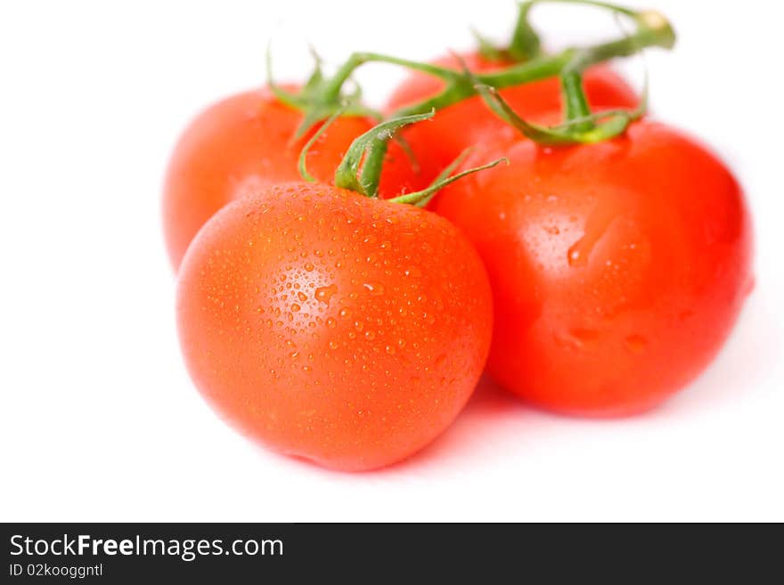
[[[477,247],[494,291],[489,373],[543,407],[625,415],[706,367],[752,287],[739,184],[653,121],[608,142],[479,149],[499,166],[447,187],[437,213]]]

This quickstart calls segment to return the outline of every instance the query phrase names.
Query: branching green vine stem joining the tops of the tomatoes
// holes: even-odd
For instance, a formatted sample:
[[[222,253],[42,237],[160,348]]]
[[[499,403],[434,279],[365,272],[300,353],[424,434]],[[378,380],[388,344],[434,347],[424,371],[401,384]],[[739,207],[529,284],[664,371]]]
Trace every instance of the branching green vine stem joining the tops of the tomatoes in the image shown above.
[[[572,47],[551,55],[539,53],[538,37],[535,36],[535,31],[528,24],[528,12],[534,4],[552,2],[598,6],[622,14],[633,21],[635,30],[632,34],[607,43],[582,48]],[[375,115],[378,117],[377,112],[363,108],[358,88],[354,93],[344,93],[344,85],[351,79],[355,69],[364,63],[391,63],[422,71],[444,80],[445,87],[440,93],[397,110],[392,114],[392,117],[397,119],[391,121],[391,126],[381,124],[367,133],[363,139],[366,141],[363,148],[356,150],[360,153],[359,158],[351,158],[355,155],[347,154],[341,164],[336,175],[336,183],[361,192],[367,197],[377,197],[381,168],[386,157],[389,137],[405,124],[430,118],[435,110],[446,108],[480,92],[483,92],[486,102],[497,114],[509,120],[513,126],[518,127],[524,134],[537,142],[561,144],[596,142],[623,132],[629,122],[635,117],[639,117],[641,113],[639,111],[614,111],[592,115],[584,95],[583,71],[594,64],[633,55],[648,47],[669,49],[674,46],[675,42],[674,30],[660,12],[634,11],[599,0],[529,0],[520,7],[514,38],[517,40],[513,40],[512,45],[518,42],[521,57],[523,57],[522,53],[526,53],[526,56],[535,53],[535,56],[527,58],[527,61],[487,73],[458,71],[432,63],[400,59],[380,53],[353,53],[335,75],[329,78],[323,77],[317,61],[314,75],[298,94],[288,93],[280,87],[274,86],[271,78],[270,84],[276,95],[284,102],[305,111],[305,118],[297,132],[297,136],[301,136],[318,122],[325,118],[334,117],[338,112],[343,115]],[[269,61],[267,69],[270,69]],[[505,106],[494,93],[494,90],[512,85],[522,85],[556,76],[560,77],[566,103],[566,123],[563,126],[548,129],[529,124],[519,117],[516,118],[514,112]],[[270,77],[272,76],[270,75]],[[487,88],[492,88],[492,90]],[[408,119],[401,124],[399,118]],[[596,126],[597,123],[600,123],[599,126]],[[302,168],[305,170],[303,176],[307,176],[304,158],[302,161]],[[359,174],[360,164],[362,165],[361,175]],[[350,173],[347,166],[352,166],[354,172]]]

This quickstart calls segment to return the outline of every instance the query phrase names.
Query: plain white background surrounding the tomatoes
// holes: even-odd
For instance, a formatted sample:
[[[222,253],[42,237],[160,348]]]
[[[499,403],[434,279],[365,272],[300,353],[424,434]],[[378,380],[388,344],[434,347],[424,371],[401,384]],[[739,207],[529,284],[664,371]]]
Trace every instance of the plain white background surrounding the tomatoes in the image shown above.
[[[754,213],[756,288],[730,342],[637,418],[560,418],[485,384],[437,443],[368,474],[263,451],[201,401],[161,175],[198,110],[262,83],[271,35],[278,77],[298,78],[307,41],[331,63],[427,59],[470,48],[471,24],[502,40],[514,4],[0,4],[0,520],[784,520],[780,10],[649,4],[680,34],[646,59],[657,118],[714,145]],[[617,34],[592,9],[537,11],[556,46]],[[643,67],[625,64],[638,82]],[[359,77],[378,104],[402,76]]]

